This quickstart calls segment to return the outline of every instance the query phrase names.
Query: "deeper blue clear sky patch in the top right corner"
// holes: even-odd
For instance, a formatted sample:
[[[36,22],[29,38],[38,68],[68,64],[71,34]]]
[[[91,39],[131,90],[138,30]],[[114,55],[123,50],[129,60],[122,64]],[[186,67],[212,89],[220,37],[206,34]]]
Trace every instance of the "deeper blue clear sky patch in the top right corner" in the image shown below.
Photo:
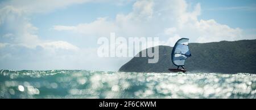
[[[191,1],[195,2],[195,1]],[[201,3],[201,19],[214,19],[232,28],[256,27],[256,2],[253,0],[196,1]]]

